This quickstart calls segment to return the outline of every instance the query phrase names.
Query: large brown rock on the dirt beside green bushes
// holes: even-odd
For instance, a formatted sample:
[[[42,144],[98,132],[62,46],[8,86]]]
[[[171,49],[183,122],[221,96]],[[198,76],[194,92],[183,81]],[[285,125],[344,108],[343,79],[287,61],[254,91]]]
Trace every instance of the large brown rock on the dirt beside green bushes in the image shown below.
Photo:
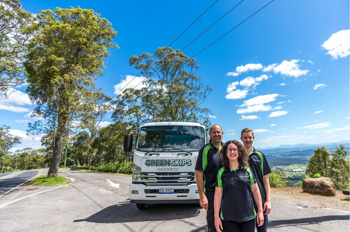
[[[303,191],[325,196],[335,196],[335,186],[328,177],[307,178],[303,181]]]

